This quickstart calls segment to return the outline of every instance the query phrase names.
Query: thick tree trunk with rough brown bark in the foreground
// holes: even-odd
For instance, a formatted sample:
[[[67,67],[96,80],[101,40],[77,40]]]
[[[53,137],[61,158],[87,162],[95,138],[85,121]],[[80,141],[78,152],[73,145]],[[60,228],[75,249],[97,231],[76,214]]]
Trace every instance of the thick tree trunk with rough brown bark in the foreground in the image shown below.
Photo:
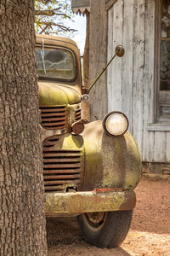
[[[0,1],[0,255],[44,256],[34,0]]]

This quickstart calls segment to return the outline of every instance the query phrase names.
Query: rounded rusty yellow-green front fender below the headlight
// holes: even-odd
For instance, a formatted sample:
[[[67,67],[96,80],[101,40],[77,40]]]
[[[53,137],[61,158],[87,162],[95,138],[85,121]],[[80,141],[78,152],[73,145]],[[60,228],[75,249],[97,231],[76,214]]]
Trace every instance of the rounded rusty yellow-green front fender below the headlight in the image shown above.
[[[86,125],[82,133],[86,152],[83,190],[134,189],[141,178],[139,149],[129,132],[122,137],[105,134],[101,121]]]

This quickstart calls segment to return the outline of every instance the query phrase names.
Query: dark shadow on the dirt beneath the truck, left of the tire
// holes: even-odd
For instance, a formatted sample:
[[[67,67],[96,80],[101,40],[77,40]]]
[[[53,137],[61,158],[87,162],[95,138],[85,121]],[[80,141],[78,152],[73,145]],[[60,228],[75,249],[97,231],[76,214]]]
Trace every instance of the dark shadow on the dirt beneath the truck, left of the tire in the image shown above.
[[[129,256],[122,247],[102,249],[82,240],[77,218],[47,218],[48,256],[61,255],[120,255]],[[109,251],[109,254],[108,254]]]

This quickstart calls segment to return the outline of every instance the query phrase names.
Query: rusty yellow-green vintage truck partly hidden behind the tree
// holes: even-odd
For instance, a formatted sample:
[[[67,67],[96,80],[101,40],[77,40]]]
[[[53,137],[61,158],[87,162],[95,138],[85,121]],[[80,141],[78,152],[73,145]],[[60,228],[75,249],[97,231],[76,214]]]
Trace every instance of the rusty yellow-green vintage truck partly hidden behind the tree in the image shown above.
[[[80,55],[71,39],[37,35],[47,216],[77,216],[82,237],[117,247],[127,236],[141,177],[139,150],[121,112],[82,119]]]

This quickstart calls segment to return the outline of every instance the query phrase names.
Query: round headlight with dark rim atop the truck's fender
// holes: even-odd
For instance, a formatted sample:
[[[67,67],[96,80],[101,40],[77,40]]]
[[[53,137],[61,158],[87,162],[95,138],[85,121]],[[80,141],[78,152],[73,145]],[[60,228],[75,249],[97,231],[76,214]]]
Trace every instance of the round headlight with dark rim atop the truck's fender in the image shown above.
[[[108,113],[103,120],[103,127],[110,136],[121,136],[128,128],[128,119],[122,112]]]

